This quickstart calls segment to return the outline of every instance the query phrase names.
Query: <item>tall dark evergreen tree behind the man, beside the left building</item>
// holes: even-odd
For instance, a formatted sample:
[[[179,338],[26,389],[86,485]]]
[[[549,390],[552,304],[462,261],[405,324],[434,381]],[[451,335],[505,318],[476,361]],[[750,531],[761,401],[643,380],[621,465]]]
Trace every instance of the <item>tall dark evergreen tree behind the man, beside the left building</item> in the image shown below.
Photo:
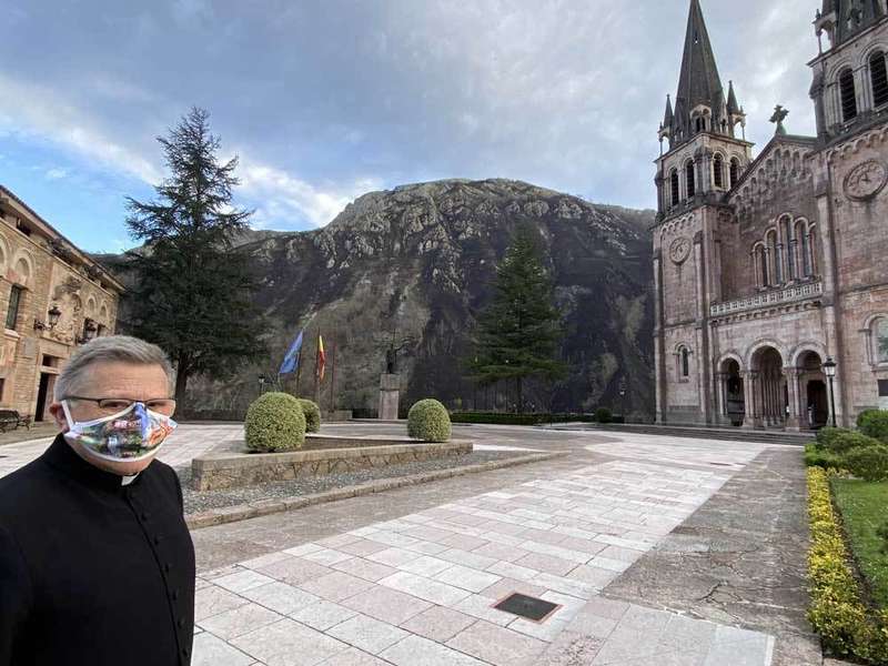
[[[251,212],[232,205],[238,159],[220,163],[220,140],[208,121],[209,113],[194,108],[158,138],[169,176],[154,201],[127,200],[130,234],[143,241],[127,253],[135,272],[133,333],[170,355],[180,404],[190,376],[229,376],[263,351],[255,285],[246,259],[233,250]]]

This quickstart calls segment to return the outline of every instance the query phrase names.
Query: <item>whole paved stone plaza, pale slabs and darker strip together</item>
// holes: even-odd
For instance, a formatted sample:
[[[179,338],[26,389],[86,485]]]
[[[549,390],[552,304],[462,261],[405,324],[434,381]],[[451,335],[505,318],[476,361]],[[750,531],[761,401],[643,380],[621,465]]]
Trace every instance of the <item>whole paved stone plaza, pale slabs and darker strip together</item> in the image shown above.
[[[457,435],[568,455],[195,531],[193,663],[821,664],[804,619],[799,448],[496,426]],[[180,466],[240,436],[184,425],[161,457]],[[44,446],[0,447],[0,474]],[[536,623],[493,608],[515,592],[556,609]]]

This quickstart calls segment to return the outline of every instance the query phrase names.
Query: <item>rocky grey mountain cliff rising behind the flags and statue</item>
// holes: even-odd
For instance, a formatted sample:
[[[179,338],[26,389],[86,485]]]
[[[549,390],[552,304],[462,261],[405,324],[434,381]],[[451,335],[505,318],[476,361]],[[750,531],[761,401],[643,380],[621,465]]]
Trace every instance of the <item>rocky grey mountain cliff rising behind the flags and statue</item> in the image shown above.
[[[398,355],[402,404],[436,396],[450,406],[508,406],[511,387],[481,390],[463,379],[475,317],[491,295],[497,260],[518,224],[539,234],[565,314],[569,377],[531,387],[538,408],[653,408],[653,306],[648,211],[595,205],[523,182],[447,180],[372,192],[323,229],[243,239],[262,284],[258,303],[272,324],[272,357],[234,382],[196,381],[193,403],[238,411],[276,376],[295,333],[306,329],[299,390],[315,391],[315,340],[327,351],[321,401],[374,410],[385,350]],[[333,356],[331,359],[331,356]],[[285,380],[295,390],[296,379]],[[335,392],[335,398],[333,397]]]

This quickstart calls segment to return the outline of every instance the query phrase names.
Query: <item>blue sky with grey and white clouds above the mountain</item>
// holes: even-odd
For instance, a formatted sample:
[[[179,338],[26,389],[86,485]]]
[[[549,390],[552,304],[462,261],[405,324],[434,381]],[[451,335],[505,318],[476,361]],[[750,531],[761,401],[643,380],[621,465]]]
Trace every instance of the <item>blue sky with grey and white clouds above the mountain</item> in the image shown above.
[[[813,133],[818,0],[703,0],[764,145]],[[208,109],[253,226],[324,225],[360,194],[511,178],[633,208],[675,93],[687,0],[0,0],[0,183],[88,251],[131,246],[155,137]]]

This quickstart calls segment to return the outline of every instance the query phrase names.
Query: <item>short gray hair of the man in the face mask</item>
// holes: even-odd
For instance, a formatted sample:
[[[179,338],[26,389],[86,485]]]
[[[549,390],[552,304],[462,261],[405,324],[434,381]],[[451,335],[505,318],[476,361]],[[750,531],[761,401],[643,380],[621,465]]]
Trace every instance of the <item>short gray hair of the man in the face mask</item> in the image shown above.
[[[94,363],[133,363],[137,365],[160,365],[167,374],[170,390],[174,385],[173,367],[167,353],[155,344],[129,335],[104,335],[95,337],[78,347],[65,363],[56,380],[53,394],[56,401],[81,391],[88,369]]]

